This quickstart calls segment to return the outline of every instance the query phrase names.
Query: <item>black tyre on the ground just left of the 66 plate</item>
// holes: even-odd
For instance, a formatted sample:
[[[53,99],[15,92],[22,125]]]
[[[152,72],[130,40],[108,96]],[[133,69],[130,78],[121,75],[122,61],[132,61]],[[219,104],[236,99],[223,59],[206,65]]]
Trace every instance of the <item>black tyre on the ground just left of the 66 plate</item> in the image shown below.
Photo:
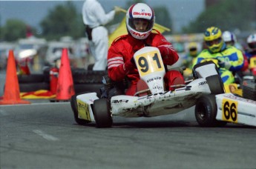
[[[214,95],[200,97],[197,100],[194,114],[201,127],[223,127],[226,125],[226,122],[216,120],[217,105]]]

